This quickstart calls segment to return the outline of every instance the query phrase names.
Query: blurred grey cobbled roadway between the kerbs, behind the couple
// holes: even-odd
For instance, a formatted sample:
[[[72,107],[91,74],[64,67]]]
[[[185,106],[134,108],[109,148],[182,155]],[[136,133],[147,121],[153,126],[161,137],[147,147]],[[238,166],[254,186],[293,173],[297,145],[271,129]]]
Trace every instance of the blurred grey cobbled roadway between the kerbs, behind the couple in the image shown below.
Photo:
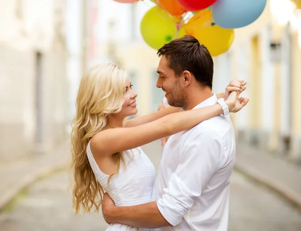
[[[143,146],[158,169],[161,145]],[[265,187],[234,171],[231,182],[229,231],[298,231],[301,212]],[[14,204],[0,214],[2,231],[105,230],[98,214],[74,215],[68,174],[58,171],[23,190]]]

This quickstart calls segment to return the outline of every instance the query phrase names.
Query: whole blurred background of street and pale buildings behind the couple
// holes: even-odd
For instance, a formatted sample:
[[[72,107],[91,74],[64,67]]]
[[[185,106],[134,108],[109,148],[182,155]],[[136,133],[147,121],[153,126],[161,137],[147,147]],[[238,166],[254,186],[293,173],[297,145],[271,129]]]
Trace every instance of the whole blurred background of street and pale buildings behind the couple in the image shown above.
[[[105,230],[101,212],[71,209],[66,163],[75,98],[82,74],[111,62],[128,72],[137,115],[158,109],[159,58],[140,31],[154,6],[0,0],[1,231]],[[254,22],[233,31],[227,51],[214,56],[213,82],[222,92],[244,79],[250,98],[231,115],[237,157],[229,230],[301,230],[301,0],[267,0]],[[158,168],[161,140],[142,148]]]

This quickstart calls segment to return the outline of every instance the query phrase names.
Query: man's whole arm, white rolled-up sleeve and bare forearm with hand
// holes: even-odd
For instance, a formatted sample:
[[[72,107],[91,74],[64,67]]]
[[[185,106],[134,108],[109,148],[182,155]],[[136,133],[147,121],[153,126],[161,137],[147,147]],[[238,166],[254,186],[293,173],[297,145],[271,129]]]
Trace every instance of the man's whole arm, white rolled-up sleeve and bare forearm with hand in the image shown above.
[[[183,146],[183,156],[157,202],[115,207],[109,196],[103,200],[106,221],[135,227],[157,228],[177,225],[217,170],[222,142],[212,130],[195,132]]]

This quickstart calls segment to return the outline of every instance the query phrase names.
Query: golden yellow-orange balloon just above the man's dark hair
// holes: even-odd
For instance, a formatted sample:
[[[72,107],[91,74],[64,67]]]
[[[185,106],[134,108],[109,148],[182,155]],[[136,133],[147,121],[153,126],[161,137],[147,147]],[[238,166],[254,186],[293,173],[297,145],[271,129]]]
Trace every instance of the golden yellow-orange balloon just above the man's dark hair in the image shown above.
[[[197,12],[185,25],[186,32],[207,46],[212,56],[226,52],[234,39],[234,30],[213,22],[211,10]]]

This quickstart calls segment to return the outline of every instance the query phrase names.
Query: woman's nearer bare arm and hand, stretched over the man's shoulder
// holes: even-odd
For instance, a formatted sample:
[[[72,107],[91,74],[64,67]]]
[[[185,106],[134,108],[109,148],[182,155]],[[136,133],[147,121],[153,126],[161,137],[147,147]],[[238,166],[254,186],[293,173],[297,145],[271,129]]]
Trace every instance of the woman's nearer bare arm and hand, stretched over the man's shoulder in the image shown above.
[[[225,101],[229,110],[234,108],[236,97],[237,92],[235,91],[231,93]],[[244,105],[242,105],[241,108],[243,106]],[[134,127],[103,130],[94,135],[91,140],[91,148],[94,149],[93,153],[95,154],[102,156],[111,155],[112,153],[135,148],[159,138],[186,130],[206,119],[222,113],[223,110],[221,106],[215,104],[200,109],[168,114],[152,122]]]

